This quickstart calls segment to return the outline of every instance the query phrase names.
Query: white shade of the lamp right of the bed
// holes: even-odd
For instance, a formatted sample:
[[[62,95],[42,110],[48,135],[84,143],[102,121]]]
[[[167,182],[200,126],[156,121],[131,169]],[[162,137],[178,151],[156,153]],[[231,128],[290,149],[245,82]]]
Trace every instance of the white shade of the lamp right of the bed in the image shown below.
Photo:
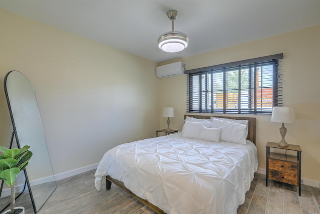
[[[275,106],[272,110],[271,122],[294,123],[295,113],[290,107]]]

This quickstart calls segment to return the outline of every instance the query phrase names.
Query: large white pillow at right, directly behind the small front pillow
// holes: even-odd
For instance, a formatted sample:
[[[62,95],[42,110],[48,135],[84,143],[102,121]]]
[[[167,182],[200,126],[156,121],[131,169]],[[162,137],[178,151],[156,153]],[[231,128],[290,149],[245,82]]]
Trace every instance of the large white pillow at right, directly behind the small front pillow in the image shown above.
[[[212,118],[212,128],[222,127],[220,141],[245,144],[245,128],[240,123]]]

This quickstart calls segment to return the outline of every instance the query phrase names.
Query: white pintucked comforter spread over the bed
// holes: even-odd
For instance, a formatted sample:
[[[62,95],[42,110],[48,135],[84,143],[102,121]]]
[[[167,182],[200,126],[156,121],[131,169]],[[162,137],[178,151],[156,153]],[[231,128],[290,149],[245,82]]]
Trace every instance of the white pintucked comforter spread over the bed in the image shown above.
[[[180,133],[124,143],[108,150],[95,172],[170,214],[236,213],[258,165],[255,145],[214,143]]]

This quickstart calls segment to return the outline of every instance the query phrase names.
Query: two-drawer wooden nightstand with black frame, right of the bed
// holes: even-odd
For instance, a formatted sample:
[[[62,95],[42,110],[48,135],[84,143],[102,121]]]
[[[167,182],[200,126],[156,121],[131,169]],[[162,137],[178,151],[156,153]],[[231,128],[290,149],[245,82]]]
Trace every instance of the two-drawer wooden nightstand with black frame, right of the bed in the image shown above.
[[[297,185],[301,195],[301,148],[299,145],[289,144],[287,147],[278,146],[277,143],[267,142],[266,147],[266,173],[265,186],[268,179],[283,183]],[[270,148],[296,151],[295,155],[270,152]]]

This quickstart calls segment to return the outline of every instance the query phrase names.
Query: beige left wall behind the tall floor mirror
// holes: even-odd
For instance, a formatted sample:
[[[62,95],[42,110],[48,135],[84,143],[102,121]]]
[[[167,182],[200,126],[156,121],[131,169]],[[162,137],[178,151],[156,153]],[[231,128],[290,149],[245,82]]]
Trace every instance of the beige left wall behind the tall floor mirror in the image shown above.
[[[1,9],[0,29],[1,145],[12,130],[3,91],[11,70],[35,89],[55,175],[96,164],[117,144],[155,136],[154,62]]]

